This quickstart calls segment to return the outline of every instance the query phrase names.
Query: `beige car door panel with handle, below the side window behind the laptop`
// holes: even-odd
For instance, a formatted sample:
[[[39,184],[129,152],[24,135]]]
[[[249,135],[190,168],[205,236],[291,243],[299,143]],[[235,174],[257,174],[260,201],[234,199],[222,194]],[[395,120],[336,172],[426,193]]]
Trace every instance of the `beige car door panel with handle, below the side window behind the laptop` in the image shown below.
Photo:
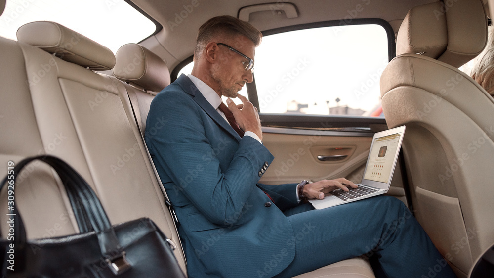
[[[319,181],[340,177],[354,183],[362,181],[372,136],[375,132],[387,129],[381,124],[385,123],[384,119],[374,119],[374,123],[372,119],[366,119],[363,123],[358,123],[360,118],[352,122],[351,118],[339,121],[338,117],[335,119],[332,116],[311,117],[319,121],[301,122],[295,119],[294,123],[293,117],[261,115],[263,144],[275,156],[262,176],[261,183],[284,184],[303,179]],[[325,124],[326,128],[315,129],[314,126],[318,123],[321,126],[322,119],[330,120],[328,122],[331,124]],[[283,127],[285,124],[298,128]],[[387,195],[407,203],[401,161],[398,163]]]

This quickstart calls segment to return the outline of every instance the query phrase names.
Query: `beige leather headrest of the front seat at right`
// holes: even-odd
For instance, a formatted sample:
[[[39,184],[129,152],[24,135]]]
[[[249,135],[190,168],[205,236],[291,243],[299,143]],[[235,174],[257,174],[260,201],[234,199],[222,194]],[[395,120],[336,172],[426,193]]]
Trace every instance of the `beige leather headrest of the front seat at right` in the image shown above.
[[[487,43],[487,17],[481,0],[433,2],[413,7],[396,39],[396,55],[422,54],[460,67]]]

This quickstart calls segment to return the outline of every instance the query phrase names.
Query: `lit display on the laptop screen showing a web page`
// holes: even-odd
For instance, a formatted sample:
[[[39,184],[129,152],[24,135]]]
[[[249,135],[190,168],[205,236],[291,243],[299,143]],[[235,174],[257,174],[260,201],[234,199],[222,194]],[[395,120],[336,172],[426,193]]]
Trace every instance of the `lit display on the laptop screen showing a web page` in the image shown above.
[[[374,139],[364,179],[388,182],[400,136],[401,134],[396,133]]]

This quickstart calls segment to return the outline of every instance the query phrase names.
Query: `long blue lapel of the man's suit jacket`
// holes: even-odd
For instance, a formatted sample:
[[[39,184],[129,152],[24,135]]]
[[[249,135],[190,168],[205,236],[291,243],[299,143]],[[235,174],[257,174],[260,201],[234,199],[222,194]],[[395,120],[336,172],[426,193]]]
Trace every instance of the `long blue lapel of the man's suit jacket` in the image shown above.
[[[192,96],[192,99],[206,112],[206,114],[226,132],[230,133],[237,141],[242,139],[239,134],[230,126],[230,124],[214,109],[211,104],[204,98],[203,94],[194,85],[186,75],[182,74],[175,81],[180,87]]]

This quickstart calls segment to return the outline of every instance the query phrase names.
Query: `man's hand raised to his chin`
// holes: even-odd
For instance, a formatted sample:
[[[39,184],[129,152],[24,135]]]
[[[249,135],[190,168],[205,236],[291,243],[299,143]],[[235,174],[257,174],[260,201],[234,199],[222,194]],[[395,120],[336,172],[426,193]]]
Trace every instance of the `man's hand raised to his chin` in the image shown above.
[[[262,141],[261,120],[257,113],[257,108],[243,95],[237,94],[237,97],[242,100],[242,104],[235,105],[235,102],[228,98],[226,104],[232,111],[235,121],[243,131],[251,131],[255,133]]]

